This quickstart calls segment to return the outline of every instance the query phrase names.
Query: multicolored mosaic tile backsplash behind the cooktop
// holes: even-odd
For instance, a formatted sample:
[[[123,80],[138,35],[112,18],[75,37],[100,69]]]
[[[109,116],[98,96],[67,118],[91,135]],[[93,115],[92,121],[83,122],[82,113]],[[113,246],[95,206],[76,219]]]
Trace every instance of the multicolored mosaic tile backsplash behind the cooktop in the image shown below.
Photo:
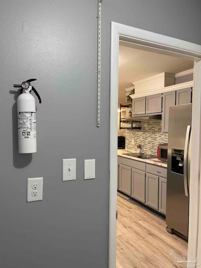
[[[168,142],[168,134],[161,134],[161,121],[145,121],[144,132],[126,131],[126,149],[137,150],[137,144],[141,144],[141,152],[157,154],[157,146]],[[134,139],[134,145],[132,145]]]

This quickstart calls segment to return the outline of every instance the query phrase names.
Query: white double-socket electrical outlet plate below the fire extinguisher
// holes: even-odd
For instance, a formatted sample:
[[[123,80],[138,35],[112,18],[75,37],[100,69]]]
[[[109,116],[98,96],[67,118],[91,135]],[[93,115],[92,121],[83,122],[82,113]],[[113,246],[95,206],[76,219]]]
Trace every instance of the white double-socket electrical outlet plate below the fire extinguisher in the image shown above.
[[[40,200],[43,200],[43,178],[28,178],[27,202]]]

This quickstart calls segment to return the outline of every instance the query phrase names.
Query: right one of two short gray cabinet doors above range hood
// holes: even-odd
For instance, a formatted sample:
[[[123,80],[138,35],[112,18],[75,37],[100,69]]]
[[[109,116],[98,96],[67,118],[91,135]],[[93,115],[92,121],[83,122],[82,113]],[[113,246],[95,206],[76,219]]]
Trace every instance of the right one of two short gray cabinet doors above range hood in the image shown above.
[[[146,113],[158,113],[162,108],[162,93],[146,97]]]

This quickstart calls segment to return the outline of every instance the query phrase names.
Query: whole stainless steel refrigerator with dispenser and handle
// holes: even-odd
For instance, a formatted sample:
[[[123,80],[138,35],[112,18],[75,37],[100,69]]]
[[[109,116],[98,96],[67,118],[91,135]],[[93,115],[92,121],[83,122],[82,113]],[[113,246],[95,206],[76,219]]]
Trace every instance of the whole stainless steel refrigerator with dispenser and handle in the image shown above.
[[[166,230],[188,237],[192,104],[169,108]]]

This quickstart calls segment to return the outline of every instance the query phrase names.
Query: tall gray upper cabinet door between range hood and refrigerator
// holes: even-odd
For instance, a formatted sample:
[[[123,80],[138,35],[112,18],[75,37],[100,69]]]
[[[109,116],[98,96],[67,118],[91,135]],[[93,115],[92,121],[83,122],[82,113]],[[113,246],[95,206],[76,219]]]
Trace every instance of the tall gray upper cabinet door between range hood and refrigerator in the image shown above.
[[[168,132],[169,107],[174,106],[176,101],[176,91],[163,93],[162,129],[163,133]]]

